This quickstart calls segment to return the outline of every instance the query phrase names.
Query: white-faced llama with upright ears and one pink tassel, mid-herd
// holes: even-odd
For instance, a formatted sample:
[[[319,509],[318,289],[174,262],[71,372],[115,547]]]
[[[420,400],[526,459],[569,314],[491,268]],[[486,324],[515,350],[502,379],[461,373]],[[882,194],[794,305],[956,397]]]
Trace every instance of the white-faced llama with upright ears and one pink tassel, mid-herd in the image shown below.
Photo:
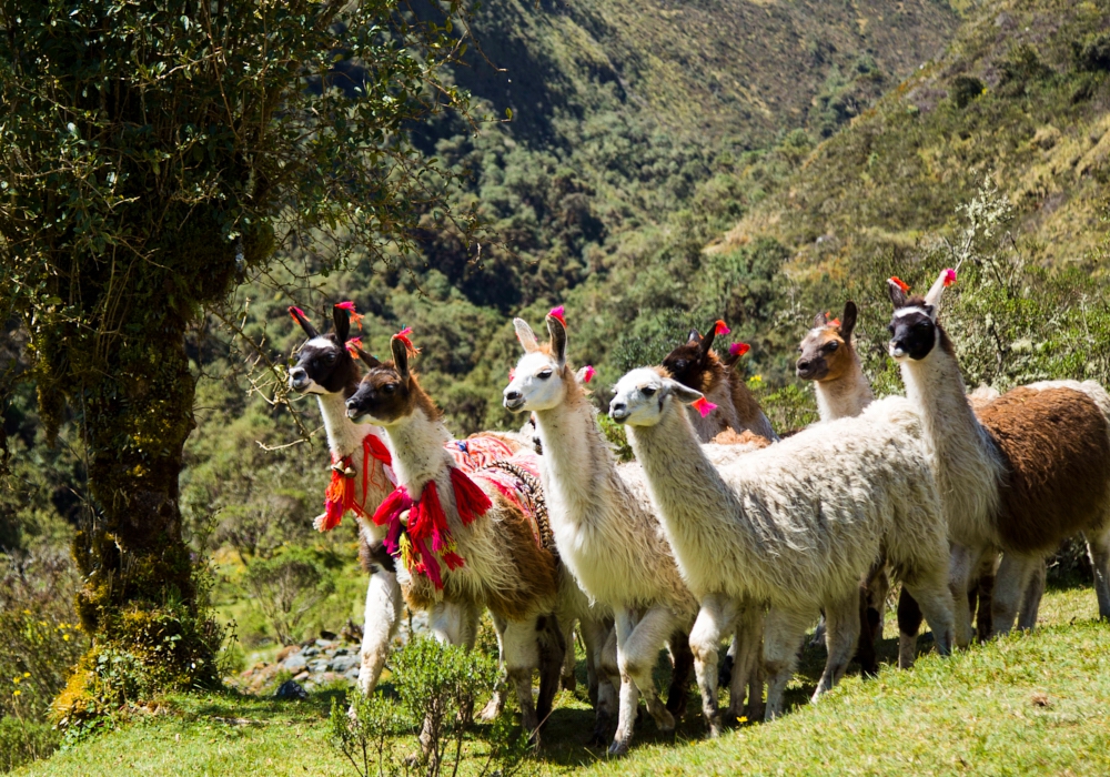
[[[632,741],[638,696],[662,730],[674,729],[689,670],[680,657],[688,653],[686,630],[697,605],[678,576],[646,493],[637,497],[635,484],[618,472],[596,413],[567,364],[562,311],[547,316],[551,342],[545,345],[523,320],[513,323],[525,354],[504,391],[504,403],[509,411],[535,415],[559,556],[589,598],[613,613],[617,666],[606,668],[618,673],[620,690],[608,751],[623,755]],[[652,669],[668,642],[676,682],[665,706]]]

